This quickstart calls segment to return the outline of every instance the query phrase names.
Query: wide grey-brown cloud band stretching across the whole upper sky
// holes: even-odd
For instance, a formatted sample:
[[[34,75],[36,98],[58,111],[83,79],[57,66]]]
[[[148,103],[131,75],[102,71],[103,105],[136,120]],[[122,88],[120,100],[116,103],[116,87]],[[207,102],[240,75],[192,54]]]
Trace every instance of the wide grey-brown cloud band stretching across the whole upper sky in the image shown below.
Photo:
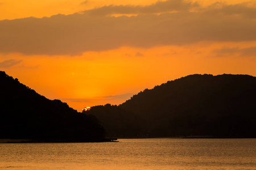
[[[151,48],[200,41],[255,41],[256,7],[189,1],[104,6],[84,14],[0,21],[0,53],[80,55],[131,46]],[[155,14],[158,13],[159,14]],[[110,14],[137,16],[109,16]]]

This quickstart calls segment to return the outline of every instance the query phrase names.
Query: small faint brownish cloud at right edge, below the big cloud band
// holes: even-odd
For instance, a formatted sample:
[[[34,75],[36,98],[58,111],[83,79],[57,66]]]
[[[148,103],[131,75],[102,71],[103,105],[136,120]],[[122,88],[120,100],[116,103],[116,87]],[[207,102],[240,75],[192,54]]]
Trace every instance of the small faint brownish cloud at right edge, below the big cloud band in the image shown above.
[[[215,53],[220,55],[232,55],[235,53],[240,54],[240,57],[256,57],[256,46],[252,46],[250,48],[222,48],[219,50],[215,50]]]

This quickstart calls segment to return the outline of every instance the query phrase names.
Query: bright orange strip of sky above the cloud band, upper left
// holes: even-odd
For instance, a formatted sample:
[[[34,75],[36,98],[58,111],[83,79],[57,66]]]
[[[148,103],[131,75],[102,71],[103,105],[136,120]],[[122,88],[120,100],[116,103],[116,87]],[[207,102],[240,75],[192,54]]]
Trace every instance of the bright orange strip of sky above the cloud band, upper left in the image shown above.
[[[70,15],[76,12],[109,5],[149,5],[157,0],[1,0],[0,20],[28,18],[34,16],[43,18],[57,14]],[[82,4],[81,4],[82,3]]]

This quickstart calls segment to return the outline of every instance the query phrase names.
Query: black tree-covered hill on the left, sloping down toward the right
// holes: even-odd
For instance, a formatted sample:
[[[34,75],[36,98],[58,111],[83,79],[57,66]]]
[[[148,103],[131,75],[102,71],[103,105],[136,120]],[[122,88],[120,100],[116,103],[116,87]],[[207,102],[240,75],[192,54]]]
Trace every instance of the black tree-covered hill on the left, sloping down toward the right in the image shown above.
[[[60,100],[37,94],[0,71],[0,138],[38,141],[104,141],[105,130]]]

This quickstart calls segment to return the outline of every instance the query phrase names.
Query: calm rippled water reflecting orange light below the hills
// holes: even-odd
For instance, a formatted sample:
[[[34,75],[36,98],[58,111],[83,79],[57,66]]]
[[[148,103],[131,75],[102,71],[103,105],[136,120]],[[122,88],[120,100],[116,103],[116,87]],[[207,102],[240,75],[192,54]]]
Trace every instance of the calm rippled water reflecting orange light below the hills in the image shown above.
[[[0,169],[256,169],[256,139],[0,143]]]

